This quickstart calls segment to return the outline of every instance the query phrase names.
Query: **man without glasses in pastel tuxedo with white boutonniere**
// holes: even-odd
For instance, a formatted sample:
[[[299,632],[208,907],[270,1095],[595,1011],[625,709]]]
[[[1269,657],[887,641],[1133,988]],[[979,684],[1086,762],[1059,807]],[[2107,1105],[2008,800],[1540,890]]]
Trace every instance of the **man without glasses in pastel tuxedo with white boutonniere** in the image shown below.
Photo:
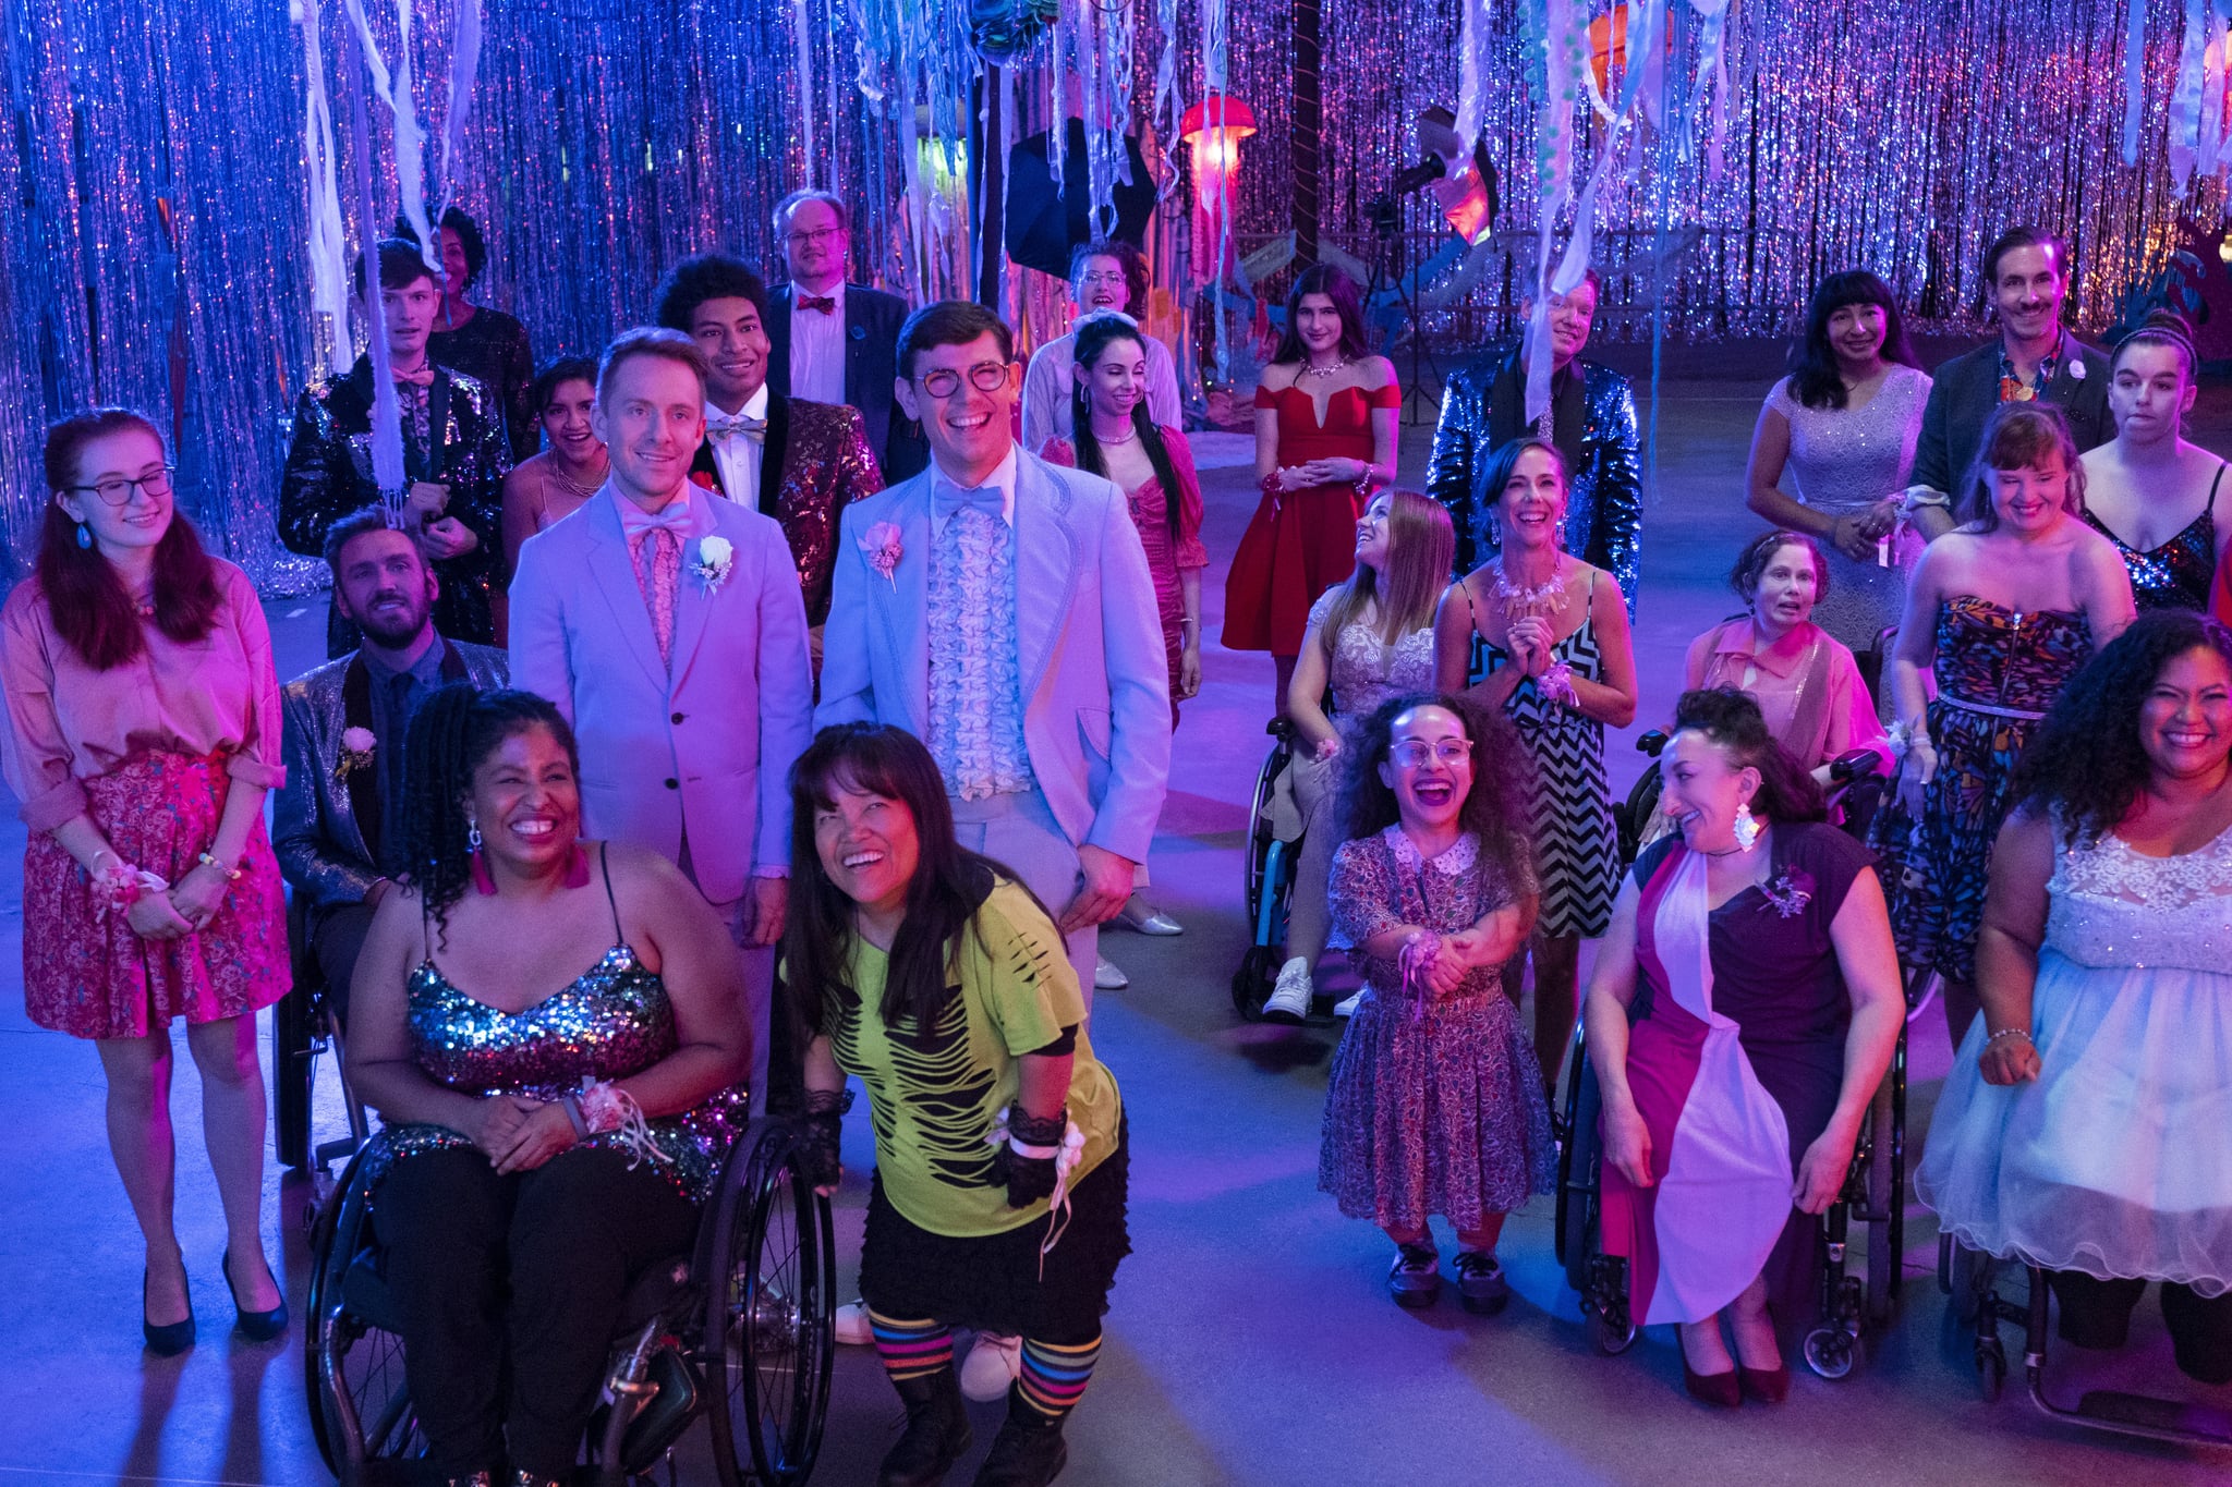
[[[587,832],[665,852],[728,919],[763,1104],[790,765],[812,736],[799,571],[772,517],[690,482],[705,437],[705,352],[690,337],[623,332],[594,424],[609,479],[520,548],[511,684],[574,725]]]

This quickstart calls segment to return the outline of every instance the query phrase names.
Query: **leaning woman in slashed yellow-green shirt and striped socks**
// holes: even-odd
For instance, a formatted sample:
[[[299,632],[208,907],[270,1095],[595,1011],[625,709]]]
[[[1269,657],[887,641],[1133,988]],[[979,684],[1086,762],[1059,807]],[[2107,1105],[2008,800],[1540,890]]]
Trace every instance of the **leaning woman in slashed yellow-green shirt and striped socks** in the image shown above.
[[[783,974],[808,1032],[806,1144],[839,1182],[857,1077],[875,1108],[859,1289],[906,1402],[879,1483],[940,1483],[969,1449],[953,1329],[1020,1335],[1007,1422],[978,1483],[1042,1487],[1100,1355],[1125,1228],[1116,1079],[1045,905],[953,836],[911,733],[821,729],[790,774]],[[982,1347],[982,1342],[980,1342]]]

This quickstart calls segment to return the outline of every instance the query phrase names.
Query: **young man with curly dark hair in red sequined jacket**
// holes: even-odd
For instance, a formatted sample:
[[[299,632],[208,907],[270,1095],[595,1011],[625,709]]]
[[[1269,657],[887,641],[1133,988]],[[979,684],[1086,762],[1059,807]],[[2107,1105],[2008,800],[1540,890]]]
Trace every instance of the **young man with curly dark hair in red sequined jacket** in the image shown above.
[[[884,488],[857,408],[768,386],[768,290],[728,254],[694,254],[658,285],[658,323],[705,352],[705,444],[690,479],[775,517],[799,568],[815,673],[837,562],[837,513]]]

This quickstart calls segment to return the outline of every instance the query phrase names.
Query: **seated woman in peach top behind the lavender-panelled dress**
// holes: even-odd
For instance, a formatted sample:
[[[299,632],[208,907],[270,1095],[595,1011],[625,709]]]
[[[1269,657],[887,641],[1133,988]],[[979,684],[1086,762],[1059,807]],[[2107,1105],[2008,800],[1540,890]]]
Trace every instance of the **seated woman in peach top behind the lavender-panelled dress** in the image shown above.
[[[1728,586],[1745,613],[1690,642],[1683,691],[1734,687],[1792,758],[1828,783],[1830,760],[1875,747],[1891,762],[1875,698],[1853,651],[1812,622],[1828,593],[1828,564],[1803,533],[1772,531],[1743,548]]]

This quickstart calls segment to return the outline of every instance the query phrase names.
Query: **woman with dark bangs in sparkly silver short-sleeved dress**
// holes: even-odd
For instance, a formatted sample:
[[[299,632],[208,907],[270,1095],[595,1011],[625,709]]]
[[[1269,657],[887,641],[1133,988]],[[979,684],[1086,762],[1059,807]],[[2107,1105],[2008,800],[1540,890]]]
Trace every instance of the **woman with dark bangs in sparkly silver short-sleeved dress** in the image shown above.
[[[1768,392],[1752,433],[1750,506],[1824,542],[1830,597],[1817,622],[1855,651],[1899,622],[1922,555],[1922,535],[1899,528],[1899,493],[1928,397],[1891,285],[1846,270],[1815,288],[1790,377]],[[1786,475],[1797,495],[1783,493]]]

